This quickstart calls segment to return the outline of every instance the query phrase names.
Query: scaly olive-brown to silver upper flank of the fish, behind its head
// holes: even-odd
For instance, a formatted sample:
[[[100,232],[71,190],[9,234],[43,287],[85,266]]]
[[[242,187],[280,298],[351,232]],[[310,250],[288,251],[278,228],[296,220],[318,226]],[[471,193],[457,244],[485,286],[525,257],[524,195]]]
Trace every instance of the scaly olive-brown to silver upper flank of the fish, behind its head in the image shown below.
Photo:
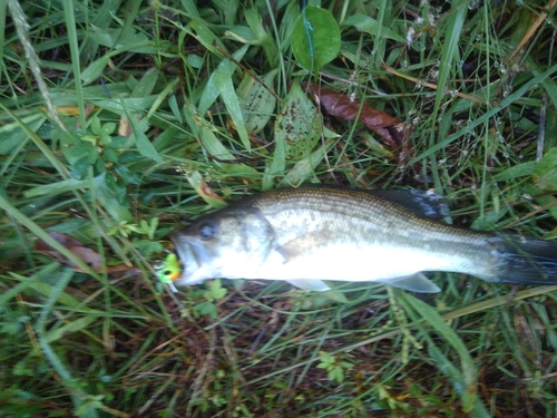
[[[420,218],[394,203],[375,198],[365,192],[331,189],[328,191],[326,201],[323,200],[321,189],[309,189],[307,194],[304,192],[304,188],[277,191],[264,195],[254,205],[273,225],[276,234],[283,237],[283,242],[294,239],[300,232],[312,233],[314,230],[329,229],[334,230],[336,241],[333,245],[342,240],[361,245],[394,243],[401,249],[423,251],[431,251],[436,246],[436,251],[447,256],[457,253],[459,260],[462,259],[462,264],[473,259],[473,268],[479,262],[485,269],[494,268],[491,257],[486,253],[491,237],[489,234]],[[317,217],[315,225],[302,227],[301,223],[307,222],[311,214]],[[450,245],[443,246],[442,243],[446,242]],[[462,257],[462,254],[467,256]],[[453,268],[462,273],[473,270],[472,266],[465,265]]]

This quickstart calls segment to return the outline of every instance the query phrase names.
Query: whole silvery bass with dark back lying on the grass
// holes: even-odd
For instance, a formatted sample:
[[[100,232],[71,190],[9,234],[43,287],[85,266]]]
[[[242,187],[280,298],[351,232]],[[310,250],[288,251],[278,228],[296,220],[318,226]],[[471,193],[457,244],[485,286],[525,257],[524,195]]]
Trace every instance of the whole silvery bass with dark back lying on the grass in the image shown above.
[[[183,263],[176,285],[207,279],[378,282],[440,288],[424,272],[496,283],[557,284],[557,243],[440,222],[447,205],[420,191],[312,186],[241,198],[170,235]]]

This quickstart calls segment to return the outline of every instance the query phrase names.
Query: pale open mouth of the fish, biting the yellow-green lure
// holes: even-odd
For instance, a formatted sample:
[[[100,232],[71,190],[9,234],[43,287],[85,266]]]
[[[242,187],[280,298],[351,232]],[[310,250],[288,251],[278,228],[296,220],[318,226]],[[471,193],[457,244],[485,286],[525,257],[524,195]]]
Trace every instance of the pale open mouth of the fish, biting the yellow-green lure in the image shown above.
[[[183,264],[182,274],[174,282],[176,285],[199,284],[212,278],[208,272],[209,254],[204,245],[194,243],[179,233],[173,234],[170,240]]]

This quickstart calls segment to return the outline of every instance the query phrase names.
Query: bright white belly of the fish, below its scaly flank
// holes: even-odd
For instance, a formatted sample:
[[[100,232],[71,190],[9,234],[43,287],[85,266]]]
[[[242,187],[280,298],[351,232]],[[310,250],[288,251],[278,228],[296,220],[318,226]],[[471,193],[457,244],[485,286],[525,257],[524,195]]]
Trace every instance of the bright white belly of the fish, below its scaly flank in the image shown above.
[[[400,247],[329,246],[311,254],[285,259],[272,252],[246,279],[322,279],[373,281],[410,275],[420,271],[450,271],[457,260]]]

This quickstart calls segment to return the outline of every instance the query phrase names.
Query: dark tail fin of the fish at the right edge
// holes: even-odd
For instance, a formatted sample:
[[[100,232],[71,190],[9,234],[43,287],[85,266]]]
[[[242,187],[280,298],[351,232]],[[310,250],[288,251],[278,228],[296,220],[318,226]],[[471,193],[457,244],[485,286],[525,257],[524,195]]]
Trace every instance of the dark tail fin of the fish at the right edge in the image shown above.
[[[518,235],[498,236],[497,241],[499,245],[492,254],[498,261],[498,273],[490,281],[557,284],[557,243]]]

